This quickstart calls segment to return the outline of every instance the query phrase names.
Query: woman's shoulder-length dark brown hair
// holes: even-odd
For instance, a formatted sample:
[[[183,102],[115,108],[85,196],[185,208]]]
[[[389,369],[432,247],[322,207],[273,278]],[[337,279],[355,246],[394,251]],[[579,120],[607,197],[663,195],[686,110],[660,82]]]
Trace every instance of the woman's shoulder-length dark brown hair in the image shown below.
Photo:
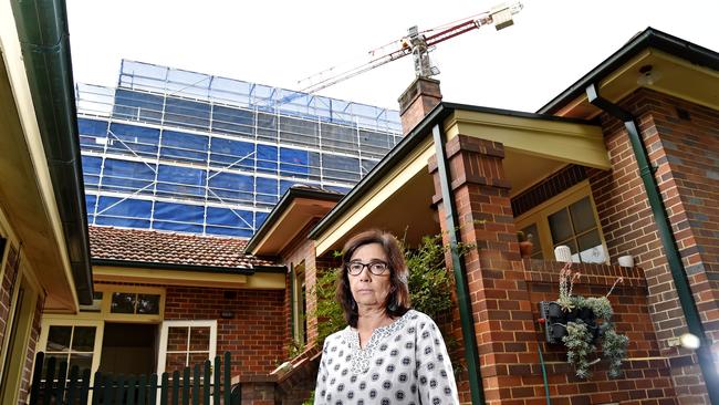
[[[344,312],[344,319],[352,328],[357,328],[357,303],[350,290],[350,276],[347,274],[347,263],[352,255],[362,246],[378,243],[387,256],[387,267],[389,268],[390,292],[385,302],[385,311],[392,318],[404,315],[409,310],[409,288],[407,287],[407,264],[399,248],[399,242],[392,233],[373,229],[351,238],[342,250],[342,269],[337,279],[336,298],[340,307]]]

